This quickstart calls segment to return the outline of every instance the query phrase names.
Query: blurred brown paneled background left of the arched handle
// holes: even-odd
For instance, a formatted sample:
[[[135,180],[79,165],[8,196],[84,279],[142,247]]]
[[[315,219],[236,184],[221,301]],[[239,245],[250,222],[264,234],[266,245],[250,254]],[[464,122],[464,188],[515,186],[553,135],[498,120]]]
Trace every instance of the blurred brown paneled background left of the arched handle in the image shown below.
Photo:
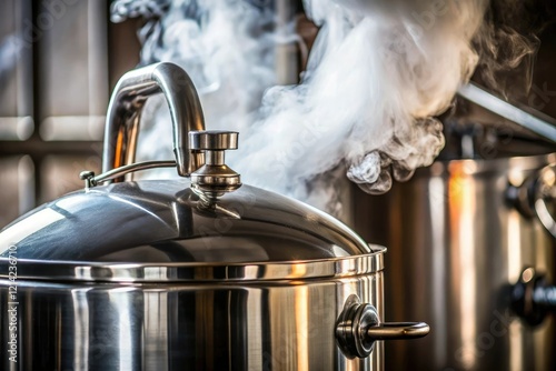
[[[139,62],[135,20],[99,1],[0,3],[0,225],[100,170],[111,88]]]

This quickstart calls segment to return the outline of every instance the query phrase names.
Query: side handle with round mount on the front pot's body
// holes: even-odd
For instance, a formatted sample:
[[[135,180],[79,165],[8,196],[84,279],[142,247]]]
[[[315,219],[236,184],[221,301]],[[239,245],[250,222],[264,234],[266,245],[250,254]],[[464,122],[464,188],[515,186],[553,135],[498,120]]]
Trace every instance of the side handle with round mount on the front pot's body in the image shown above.
[[[423,338],[430,332],[424,322],[380,322],[375,307],[360,303],[356,295],[346,301],[336,322],[336,340],[347,358],[366,358],[377,340]]]

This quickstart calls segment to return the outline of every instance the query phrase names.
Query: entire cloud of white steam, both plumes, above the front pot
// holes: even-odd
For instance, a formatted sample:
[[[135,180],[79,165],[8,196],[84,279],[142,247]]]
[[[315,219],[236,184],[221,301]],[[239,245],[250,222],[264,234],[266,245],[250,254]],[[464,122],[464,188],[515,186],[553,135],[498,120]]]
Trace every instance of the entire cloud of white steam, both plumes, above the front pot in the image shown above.
[[[129,1],[118,3],[121,13]],[[444,146],[434,117],[477,64],[471,39],[487,6],[306,0],[307,16],[320,27],[307,70],[297,86],[271,87],[278,40],[264,2],[156,3],[169,10],[148,26],[143,62],[181,64],[201,92],[207,127],[240,131],[240,154],[230,166],[246,183],[329,211],[334,182],[311,187],[319,174],[345,164],[351,181],[379,193],[393,178],[406,180],[433,162]],[[170,148],[169,128],[157,124],[150,133],[167,138],[150,140],[155,152],[158,143]]]

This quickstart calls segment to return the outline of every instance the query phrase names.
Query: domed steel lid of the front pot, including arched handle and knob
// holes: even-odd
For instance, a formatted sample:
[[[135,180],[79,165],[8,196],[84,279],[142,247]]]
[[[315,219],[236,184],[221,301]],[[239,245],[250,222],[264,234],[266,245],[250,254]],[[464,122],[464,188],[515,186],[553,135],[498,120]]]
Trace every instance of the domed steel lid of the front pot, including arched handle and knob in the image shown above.
[[[158,92],[170,108],[176,161],[132,163],[140,110]],[[128,72],[108,109],[103,173],[83,172],[85,190],[3,229],[0,264],[17,264],[18,279],[116,282],[307,279],[381,269],[384,249],[370,249],[336,219],[241,186],[224,154],[237,149],[238,133],[203,129],[183,70],[158,63]],[[125,181],[159,166],[185,178]],[[103,181],[112,183],[99,186]]]

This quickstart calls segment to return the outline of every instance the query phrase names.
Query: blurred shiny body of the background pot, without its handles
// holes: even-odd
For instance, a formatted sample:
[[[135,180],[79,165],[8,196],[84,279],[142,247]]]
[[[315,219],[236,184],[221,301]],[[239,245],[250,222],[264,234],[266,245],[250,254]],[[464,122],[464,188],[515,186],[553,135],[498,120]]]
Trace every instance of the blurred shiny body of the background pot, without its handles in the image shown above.
[[[418,319],[418,342],[389,342],[389,370],[554,370],[554,317],[530,327],[512,310],[526,267],[555,279],[555,239],[508,200],[556,156],[454,160],[419,169],[354,203],[355,230],[388,245],[386,321]],[[393,269],[390,269],[393,268]]]

